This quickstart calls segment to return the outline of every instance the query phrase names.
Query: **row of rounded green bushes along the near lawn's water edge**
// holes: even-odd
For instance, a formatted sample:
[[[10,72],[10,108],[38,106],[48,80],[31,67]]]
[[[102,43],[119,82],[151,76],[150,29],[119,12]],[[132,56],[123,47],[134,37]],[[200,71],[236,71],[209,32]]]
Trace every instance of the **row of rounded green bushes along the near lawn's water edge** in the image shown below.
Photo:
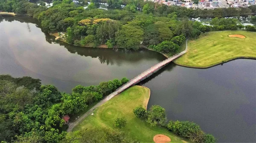
[[[206,134],[202,129],[193,122],[189,121],[167,121],[166,110],[158,105],[153,105],[146,110],[143,107],[136,107],[134,115],[137,118],[145,120],[151,126],[164,126],[176,135],[185,137],[195,143],[215,143],[216,139],[213,135]]]

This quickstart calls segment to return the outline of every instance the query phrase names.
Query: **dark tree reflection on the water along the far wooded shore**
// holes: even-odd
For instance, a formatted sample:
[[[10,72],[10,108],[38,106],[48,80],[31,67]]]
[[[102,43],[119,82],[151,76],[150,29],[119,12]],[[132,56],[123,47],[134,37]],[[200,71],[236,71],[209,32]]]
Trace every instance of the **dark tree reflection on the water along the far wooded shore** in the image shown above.
[[[12,22],[17,20],[19,22],[26,22],[26,23],[33,23],[36,27],[41,28],[40,22],[34,18],[26,17],[26,16],[4,16],[4,20]],[[41,31],[45,34],[45,40],[52,44],[57,43],[59,45],[64,46],[70,53],[77,53],[81,56],[90,56],[92,58],[98,58],[101,63],[106,64],[116,64],[121,66],[122,64],[134,64],[138,63],[141,60],[152,60],[158,59],[162,61],[165,59],[159,53],[149,51],[149,50],[139,50],[139,51],[131,51],[131,50],[124,50],[124,49],[108,49],[108,48],[85,48],[85,47],[77,47],[74,45],[70,45],[61,41],[55,41],[54,36],[50,36],[47,32],[44,32],[42,29]],[[131,54],[132,53],[132,54]],[[153,66],[154,64],[152,64]]]

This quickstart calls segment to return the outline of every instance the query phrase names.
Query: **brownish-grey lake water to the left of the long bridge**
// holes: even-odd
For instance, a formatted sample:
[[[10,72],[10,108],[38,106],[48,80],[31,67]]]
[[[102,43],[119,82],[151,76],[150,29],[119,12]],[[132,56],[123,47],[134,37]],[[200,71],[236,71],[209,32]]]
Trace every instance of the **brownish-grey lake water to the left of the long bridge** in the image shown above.
[[[0,23],[0,74],[32,76],[65,92],[78,84],[132,79],[165,59],[148,50],[84,48],[55,42],[54,36],[43,33],[32,18],[6,20]]]

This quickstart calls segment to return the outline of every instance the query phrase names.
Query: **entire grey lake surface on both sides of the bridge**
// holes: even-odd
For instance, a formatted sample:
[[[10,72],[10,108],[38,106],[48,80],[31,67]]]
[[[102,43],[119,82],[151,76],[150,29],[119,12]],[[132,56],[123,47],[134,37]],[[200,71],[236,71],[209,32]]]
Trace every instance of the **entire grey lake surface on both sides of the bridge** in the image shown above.
[[[4,19],[5,18],[5,19]],[[162,55],[148,51],[81,48],[56,42],[28,17],[0,17],[0,74],[39,78],[70,92],[127,77],[134,78]],[[168,64],[141,83],[151,89],[168,119],[194,121],[218,142],[256,142],[256,61],[239,59],[209,69]]]

